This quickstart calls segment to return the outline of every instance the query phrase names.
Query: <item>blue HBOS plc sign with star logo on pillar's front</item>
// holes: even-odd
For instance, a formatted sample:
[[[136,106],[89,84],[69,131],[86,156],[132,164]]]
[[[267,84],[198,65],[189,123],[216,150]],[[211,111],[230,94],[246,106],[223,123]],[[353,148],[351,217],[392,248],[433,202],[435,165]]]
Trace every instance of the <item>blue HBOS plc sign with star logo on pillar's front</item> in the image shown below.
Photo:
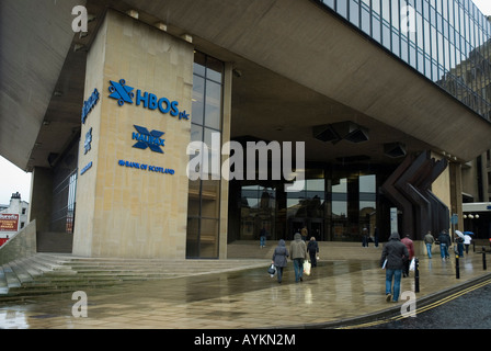
[[[173,117],[179,117],[179,120],[190,120],[190,115],[185,111],[179,111],[178,101],[170,101],[168,98],[157,98],[156,94],[147,91],[141,92],[140,89],[137,89],[135,93],[135,88],[126,86],[124,79],[119,79],[118,82],[110,80],[110,98],[116,99],[119,106],[135,102],[137,106],[142,104],[148,110],[159,110],[161,113],[169,113]]]

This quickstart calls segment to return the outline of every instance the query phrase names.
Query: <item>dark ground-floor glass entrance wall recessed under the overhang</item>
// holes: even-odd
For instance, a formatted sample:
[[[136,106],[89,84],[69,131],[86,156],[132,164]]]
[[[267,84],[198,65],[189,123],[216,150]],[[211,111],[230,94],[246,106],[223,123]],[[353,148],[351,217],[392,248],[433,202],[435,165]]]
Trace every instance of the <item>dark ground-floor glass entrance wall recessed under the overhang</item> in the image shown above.
[[[308,167],[305,188],[285,192],[284,183],[240,185],[240,240],[292,240],[307,229],[307,239],[361,241],[366,227],[374,236],[377,214],[376,176],[369,171]]]

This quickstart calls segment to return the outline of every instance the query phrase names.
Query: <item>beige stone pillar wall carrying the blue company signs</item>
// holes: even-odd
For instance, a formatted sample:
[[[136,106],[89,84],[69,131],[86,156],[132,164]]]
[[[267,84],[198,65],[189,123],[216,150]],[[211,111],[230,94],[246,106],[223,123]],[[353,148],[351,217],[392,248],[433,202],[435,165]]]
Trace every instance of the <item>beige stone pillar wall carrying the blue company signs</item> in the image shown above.
[[[109,98],[110,80],[133,87],[133,103]],[[82,125],[73,253],[91,257],[185,257],[186,146],[191,121],[136,105],[137,90],[179,102],[191,114],[193,46],[129,16],[109,11],[87,63],[87,100],[100,101]],[[165,134],[164,154],[134,148],[134,125]],[[92,127],[91,150],[84,154]],[[118,161],[169,168],[174,174],[119,166]]]

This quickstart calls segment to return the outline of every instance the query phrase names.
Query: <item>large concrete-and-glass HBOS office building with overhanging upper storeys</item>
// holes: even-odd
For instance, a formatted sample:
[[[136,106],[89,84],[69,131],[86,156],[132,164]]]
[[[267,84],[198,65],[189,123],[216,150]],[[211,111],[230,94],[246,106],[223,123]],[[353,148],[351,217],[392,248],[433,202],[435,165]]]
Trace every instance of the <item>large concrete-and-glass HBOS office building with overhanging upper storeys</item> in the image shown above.
[[[0,152],[33,172],[38,233],[72,234],[75,254],[226,258],[261,230],[361,242],[467,226],[491,149],[491,27],[471,1],[76,5],[46,1],[22,26],[9,19],[34,15],[27,2],[3,4],[2,81],[33,75],[0,87]]]

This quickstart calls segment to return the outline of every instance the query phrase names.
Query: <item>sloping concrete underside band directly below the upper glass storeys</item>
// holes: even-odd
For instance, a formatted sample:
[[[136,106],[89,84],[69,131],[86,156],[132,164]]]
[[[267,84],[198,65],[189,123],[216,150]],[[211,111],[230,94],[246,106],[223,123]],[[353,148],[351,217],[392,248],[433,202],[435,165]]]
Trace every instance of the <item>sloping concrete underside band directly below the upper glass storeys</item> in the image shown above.
[[[313,1],[126,3],[460,161],[491,148],[488,121]]]

